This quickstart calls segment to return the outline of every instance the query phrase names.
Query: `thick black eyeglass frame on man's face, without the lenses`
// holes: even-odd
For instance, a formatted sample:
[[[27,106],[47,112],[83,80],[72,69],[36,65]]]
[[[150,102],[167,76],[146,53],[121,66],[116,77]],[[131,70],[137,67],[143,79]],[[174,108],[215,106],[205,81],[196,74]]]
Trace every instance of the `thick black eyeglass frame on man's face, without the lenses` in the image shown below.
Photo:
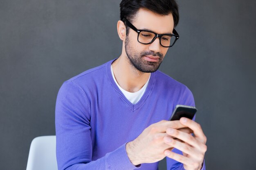
[[[123,22],[126,22],[126,25],[129,26],[130,28],[132,28],[132,30],[134,30],[135,32],[138,33],[138,37],[137,37],[137,41],[141,44],[151,44],[155,41],[155,39],[157,37],[159,37],[159,42],[160,42],[160,45],[162,47],[166,47],[166,48],[170,48],[172,47],[175,42],[177,41],[177,39],[179,39],[180,35],[177,33],[177,31],[173,28],[173,34],[157,34],[157,33],[154,33],[153,31],[148,31],[148,30],[138,30],[134,25],[132,25],[132,23],[130,23],[126,18],[123,19]],[[152,41],[150,41],[149,43],[142,43],[139,41],[139,34],[142,32],[142,31],[146,31],[146,32],[150,32],[150,33],[153,33],[155,34],[155,37],[152,39]],[[163,46],[162,43],[161,43],[161,37],[164,36],[164,35],[171,35],[171,36],[174,36],[175,37],[175,40],[173,42],[173,44],[171,46]]]

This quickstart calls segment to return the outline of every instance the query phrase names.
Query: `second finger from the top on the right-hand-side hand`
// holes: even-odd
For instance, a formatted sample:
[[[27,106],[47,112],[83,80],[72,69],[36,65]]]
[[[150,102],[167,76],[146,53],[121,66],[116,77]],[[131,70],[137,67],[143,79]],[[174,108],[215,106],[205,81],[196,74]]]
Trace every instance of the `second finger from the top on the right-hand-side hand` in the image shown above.
[[[198,143],[198,141],[195,139],[195,137],[193,137],[189,133],[185,133],[185,132],[179,131],[177,129],[172,129],[172,128],[168,128],[166,130],[166,133],[168,135],[172,136],[174,139],[175,138],[180,139],[180,140],[188,143],[189,145],[200,149],[200,144]]]

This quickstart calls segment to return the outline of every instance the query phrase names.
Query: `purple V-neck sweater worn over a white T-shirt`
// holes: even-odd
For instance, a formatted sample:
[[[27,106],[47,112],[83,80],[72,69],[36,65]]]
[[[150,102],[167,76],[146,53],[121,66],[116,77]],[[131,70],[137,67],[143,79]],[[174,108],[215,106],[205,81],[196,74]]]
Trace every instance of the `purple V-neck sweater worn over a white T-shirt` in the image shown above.
[[[58,170],[156,170],[158,162],[135,167],[126,143],[150,124],[168,120],[176,105],[194,106],[190,90],[160,71],[151,73],[144,95],[132,104],[112,78],[113,61],[61,86],[55,113]],[[183,165],[167,158],[167,169]]]

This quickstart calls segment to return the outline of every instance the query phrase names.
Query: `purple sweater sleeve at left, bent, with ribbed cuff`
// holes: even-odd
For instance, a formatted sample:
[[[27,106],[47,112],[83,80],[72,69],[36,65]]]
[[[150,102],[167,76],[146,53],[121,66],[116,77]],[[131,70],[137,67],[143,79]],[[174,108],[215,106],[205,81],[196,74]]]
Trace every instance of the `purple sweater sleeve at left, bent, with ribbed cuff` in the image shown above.
[[[67,81],[61,86],[55,110],[58,170],[136,169],[126,153],[126,144],[92,161],[90,102],[79,86]]]

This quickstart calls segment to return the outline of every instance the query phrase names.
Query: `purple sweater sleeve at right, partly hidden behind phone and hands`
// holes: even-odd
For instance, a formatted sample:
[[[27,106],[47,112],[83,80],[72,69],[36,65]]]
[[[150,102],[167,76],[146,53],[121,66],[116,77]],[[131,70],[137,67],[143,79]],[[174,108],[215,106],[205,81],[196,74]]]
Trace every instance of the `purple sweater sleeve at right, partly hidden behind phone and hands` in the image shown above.
[[[195,100],[194,100],[193,94],[189,90],[188,87],[185,88],[184,94],[183,94],[180,102],[177,103],[177,105],[195,106]],[[195,120],[195,116],[194,116],[193,120]],[[172,151],[182,155],[182,151],[180,151],[176,148],[174,148]],[[168,157],[166,157],[166,164],[167,164],[167,170],[185,170],[182,163],[175,161],[174,159],[171,159]],[[203,162],[201,170],[206,170],[204,162]]]

